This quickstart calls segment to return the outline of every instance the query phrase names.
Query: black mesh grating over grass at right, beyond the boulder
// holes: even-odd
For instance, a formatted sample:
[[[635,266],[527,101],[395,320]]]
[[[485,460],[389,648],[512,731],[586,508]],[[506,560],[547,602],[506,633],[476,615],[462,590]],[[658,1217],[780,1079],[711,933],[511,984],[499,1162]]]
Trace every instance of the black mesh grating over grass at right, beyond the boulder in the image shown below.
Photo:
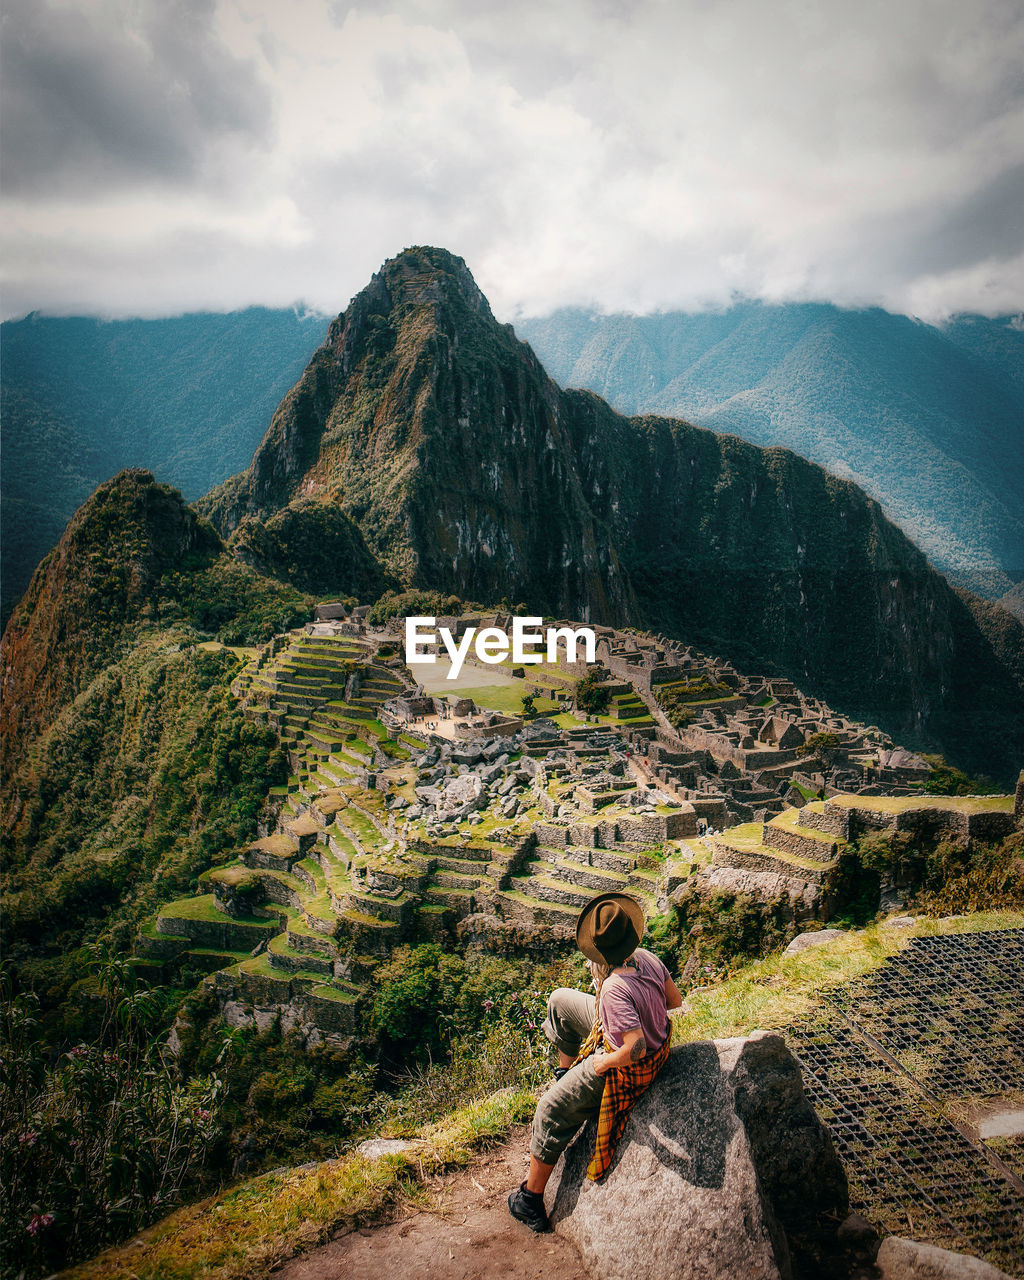
[[[1024,1275],[1024,1194],[941,1110],[1024,1091],[1024,931],[915,938],[832,1004],[787,1039],[854,1207],[890,1231]],[[998,1155],[1024,1172],[1020,1144]]]

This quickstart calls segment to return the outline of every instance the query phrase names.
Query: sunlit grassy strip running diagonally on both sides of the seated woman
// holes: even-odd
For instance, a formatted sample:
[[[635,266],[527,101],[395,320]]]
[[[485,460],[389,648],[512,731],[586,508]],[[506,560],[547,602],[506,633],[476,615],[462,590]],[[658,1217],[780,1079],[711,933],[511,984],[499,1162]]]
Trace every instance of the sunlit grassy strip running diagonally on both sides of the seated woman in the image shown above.
[[[869,973],[911,937],[1024,928],[1024,914],[982,913],[922,919],[913,929],[883,925],[851,932],[795,956],[748,965],[728,982],[691,992],[673,1042],[785,1028],[820,1001],[822,991]],[[178,1210],[140,1240],[64,1272],[65,1280],[242,1280],[261,1277],[283,1260],[323,1243],[344,1224],[378,1221],[424,1171],[461,1165],[474,1147],[529,1117],[529,1093],[498,1093],[424,1129],[402,1155],[369,1161],[347,1156],[312,1167],[265,1174],[200,1204]]]

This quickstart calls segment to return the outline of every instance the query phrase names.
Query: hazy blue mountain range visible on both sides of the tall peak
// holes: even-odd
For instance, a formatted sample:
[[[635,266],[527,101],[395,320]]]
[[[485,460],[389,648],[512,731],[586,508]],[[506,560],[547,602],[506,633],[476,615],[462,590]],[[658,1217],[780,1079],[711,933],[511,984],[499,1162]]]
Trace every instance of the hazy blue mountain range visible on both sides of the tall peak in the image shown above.
[[[10,608],[78,504],[122,467],[187,499],[247,465],[328,320],[251,308],[0,326],[3,576]],[[562,385],[626,413],[781,444],[856,481],[952,581],[1024,580],[1024,326],[883,311],[728,311],[517,324]],[[1005,605],[1020,611],[1006,595]]]

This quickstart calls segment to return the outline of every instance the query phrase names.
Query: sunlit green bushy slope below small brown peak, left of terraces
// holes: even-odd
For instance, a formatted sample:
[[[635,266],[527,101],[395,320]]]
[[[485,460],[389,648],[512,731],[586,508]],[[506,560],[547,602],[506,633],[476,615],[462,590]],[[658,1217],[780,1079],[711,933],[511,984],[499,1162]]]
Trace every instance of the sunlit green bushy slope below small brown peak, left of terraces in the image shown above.
[[[5,954],[65,1034],[91,1016],[78,948],[102,933],[129,951],[147,914],[257,835],[287,776],[275,735],[230,695],[237,669],[195,632],[147,632],[5,780]]]

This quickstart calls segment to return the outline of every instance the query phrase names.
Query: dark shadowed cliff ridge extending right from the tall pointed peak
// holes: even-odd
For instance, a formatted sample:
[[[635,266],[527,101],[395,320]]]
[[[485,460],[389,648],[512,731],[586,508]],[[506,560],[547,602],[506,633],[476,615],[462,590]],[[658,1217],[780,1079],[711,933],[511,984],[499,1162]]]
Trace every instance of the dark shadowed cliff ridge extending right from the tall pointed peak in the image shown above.
[[[584,493],[645,625],[1012,772],[1024,628],[955,591],[877,502],[787,449],[622,419],[588,392],[564,403]]]

